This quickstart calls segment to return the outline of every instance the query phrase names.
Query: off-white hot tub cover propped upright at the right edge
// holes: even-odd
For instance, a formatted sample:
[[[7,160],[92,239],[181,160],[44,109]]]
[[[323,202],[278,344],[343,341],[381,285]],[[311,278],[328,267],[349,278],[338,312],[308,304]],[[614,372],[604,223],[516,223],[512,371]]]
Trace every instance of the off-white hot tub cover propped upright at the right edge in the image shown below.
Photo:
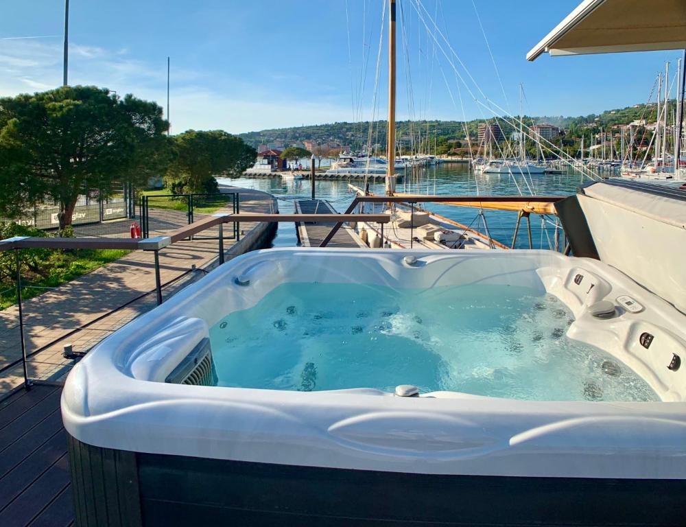
[[[686,190],[613,179],[578,198],[600,259],[686,313]]]

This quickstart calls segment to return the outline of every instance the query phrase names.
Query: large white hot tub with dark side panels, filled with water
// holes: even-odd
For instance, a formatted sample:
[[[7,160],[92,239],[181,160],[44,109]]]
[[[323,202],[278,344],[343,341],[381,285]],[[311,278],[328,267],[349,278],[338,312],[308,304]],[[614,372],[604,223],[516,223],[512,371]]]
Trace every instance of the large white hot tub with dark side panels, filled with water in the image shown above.
[[[512,397],[488,397],[445,390],[462,386],[454,383],[458,374],[445,357],[440,362],[445,371],[435,382],[430,371],[420,375],[427,360],[404,364],[398,384],[418,384],[421,393],[400,397],[392,386],[383,388],[396,378],[395,363],[391,357],[388,368],[379,367],[374,338],[356,340],[353,351],[366,354],[369,366],[363,373],[389,375],[379,386],[355,385],[358,355],[343,344],[338,349],[326,340],[316,347],[309,330],[303,330],[309,340],[302,349],[292,336],[283,341],[291,348],[279,344],[278,338],[287,338],[283,325],[300,331],[311,322],[306,291],[335,286],[355,293],[361,284],[372,292],[401,292],[410,301],[413,294],[446,292],[440,302],[434,299],[442,322],[421,329],[427,333],[412,333],[412,349],[421,344],[417,339],[458,331],[450,320],[462,327],[464,314],[451,319],[443,309],[448,304],[441,303],[451,292],[454,298],[464,291],[501,288],[524,291],[528,302],[536,295],[548,298],[571,314],[565,339],[604,353],[609,359],[602,364],[612,365],[605,373],[630,372],[648,387],[652,400],[606,401],[595,385],[590,393],[570,392],[569,400],[555,401],[541,400],[535,390],[523,391],[522,397],[517,391]],[[294,298],[299,290],[303,296],[288,306],[294,318],[282,324],[281,314],[271,317],[269,305],[260,302],[284,285]],[[337,298],[321,301],[337,311]],[[592,314],[607,312],[599,309],[600,301],[613,304],[606,318]],[[230,318],[257,307],[261,311],[252,318]],[[512,309],[520,308],[514,298]],[[369,311],[373,308],[362,305],[358,318]],[[273,348],[263,328],[246,331],[238,323],[257,324],[256,313],[281,331]],[[404,320],[395,315],[393,320]],[[426,312],[423,318],[425,328]],[[493,317],[494,326],[501,319]],[[246,335],[227,338],[220,349],[215,332],[226,320],[233,320],[234,333]],[[338,323],[313,320],[321,328],[317,338],[330,339],[338,331]],[[512,329],[520,338],[539,325],[521,320]],[[354,325],[352,333],[366,336],[364,324]],[[383,338],[391,338],[388,327],[381,329]],[[465,326],[464,335],[467,344],[478,347],[479,336],[487,337],[488,331],[472,333]],[[309,391],[293,388],[292,378],[262,385],[261,374],[252,375],[260,368],[269,371],[277,355],[287,361],[306,352],[305,364],[314,365],[307,366],[309,371],[320,375],[316,381],[303,377]],[[232,362],[225,353],[243,359]],[[335,368],[315,364],[311,357],[318,353],[340,355],[338,369],[353,373],[327,385],[321,377]],[[517,353],[508,355],[510,370],[529,360],[527,346]],[[273,249],[230,261],[104,340],[69,375],[62,415],[75,489],[95,502],[119,500],[121,511],[122,500],[138,504],[122,513],[137,524],[217,518],[270,525],[324,524],[323,519],[370,525],[678,524],[686,495],[685,358],[686,316],[600,261],[531,250]],[[459,358],[455,362],[459,370]],[[238,377],[231,375],[241,368],[245,375],[238,377],[250,382],[237,387]],[[421,382],[410,378],[414,371]],[[232,386],[176,384],[185,379],[222,384],[224,376],[229,379],[224,384]],[[83,471],[91,476],[82,477]],[[130,477],[122,479],[122,473]],[[108,480],[117,483],[108,486]],[[114,489],[115,495],[103,494],[101,487]],[[82,517],[97,514],[84,511]],[[103,518],[99,524],[107,524]]]

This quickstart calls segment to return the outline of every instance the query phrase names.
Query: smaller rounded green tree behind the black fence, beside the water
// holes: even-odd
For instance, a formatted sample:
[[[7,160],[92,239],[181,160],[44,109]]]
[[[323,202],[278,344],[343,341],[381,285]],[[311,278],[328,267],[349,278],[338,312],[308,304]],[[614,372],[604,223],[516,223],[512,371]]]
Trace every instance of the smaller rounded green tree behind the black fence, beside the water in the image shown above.
[[[216,192],[215,176],[239,176],[257,156],[255,148],[223,130],[187,130],[171,140],[175,159],[165,179],[174,194]]]

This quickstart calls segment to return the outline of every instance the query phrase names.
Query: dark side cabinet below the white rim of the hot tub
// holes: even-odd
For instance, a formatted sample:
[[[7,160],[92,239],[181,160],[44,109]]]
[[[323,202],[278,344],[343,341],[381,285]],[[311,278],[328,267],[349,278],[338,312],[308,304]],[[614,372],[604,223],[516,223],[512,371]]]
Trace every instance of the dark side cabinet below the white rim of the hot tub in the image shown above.
[[[69,438],[77,526],[683,526],[684,480],[522,478],[141,454]]]

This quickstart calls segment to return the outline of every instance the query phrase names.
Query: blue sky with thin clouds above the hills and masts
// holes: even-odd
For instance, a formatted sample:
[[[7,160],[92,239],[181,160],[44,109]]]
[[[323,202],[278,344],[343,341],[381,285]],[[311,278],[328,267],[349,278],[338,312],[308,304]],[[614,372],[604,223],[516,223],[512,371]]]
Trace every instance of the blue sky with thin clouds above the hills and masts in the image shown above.
[[[404,32],[398,28],[399,119],[490,117],[488,106],[495,105],[517,113],[519,83],[530,115],[599,113],[645,102],[664,62],[672,61],[674,70],[681,56],[660,51],[527,62],[526,52],[580,0],[399,1],[404,20]],[[63,0],[2,3],[0,95],[60,85]],[[247,132],[386,113],[386,30],[376,79],[382,0],[71,0],[70,5],[70,84],[106,86],[165,106],[169,55],[172,132]],[[434,44],[434,35],[451,60]],[[25,36],[43,38],[16,38]]]

